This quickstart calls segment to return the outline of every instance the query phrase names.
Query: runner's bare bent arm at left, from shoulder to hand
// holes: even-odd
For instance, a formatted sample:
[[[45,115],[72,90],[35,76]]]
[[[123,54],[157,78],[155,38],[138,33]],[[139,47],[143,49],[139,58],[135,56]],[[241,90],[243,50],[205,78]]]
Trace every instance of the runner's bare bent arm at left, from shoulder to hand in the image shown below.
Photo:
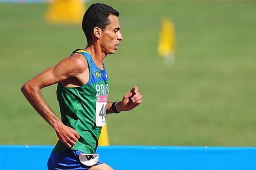
[[[53,127],[58,138],[69,148],[78,141],[80,136],[58,119],[42,97],[40,89],[81,74],[88,68],[84,60],[83,57],[76,55],[65,58],[29,80],[21,89],[29,103]]]

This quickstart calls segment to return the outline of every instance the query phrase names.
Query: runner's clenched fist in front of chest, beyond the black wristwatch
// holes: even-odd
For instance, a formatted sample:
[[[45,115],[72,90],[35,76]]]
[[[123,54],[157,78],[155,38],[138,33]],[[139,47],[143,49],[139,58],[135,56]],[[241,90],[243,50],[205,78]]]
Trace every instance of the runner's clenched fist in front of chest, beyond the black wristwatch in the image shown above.
[[[141,101],[142,95],[137,86],[133,87],[130,91],[123,95],[121,102],[117,103],[116,108],[118,111],[129,111],[138,106]]]

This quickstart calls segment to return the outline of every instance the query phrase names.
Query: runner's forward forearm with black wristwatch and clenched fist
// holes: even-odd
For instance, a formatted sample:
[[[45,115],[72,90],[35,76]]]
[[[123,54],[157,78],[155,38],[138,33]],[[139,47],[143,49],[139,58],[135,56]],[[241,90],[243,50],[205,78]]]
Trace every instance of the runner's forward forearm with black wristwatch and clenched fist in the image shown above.
[[[106,114],[118,113],[121,111],[129,111],[141,104],[142,95],[137,86],[133,87],[130,91],[123,95],[120,102],[108,102],[106,104]]]

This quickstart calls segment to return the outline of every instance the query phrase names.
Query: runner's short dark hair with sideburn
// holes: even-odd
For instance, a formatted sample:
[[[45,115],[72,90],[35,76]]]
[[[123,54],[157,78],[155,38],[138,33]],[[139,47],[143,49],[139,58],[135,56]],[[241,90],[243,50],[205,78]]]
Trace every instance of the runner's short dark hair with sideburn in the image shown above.
[[[110,15],[119,16],[119,12],[111,6],[100,3],[93,4],[88,8],[82,19],[82,30],[86,34],[88,43],[91,42],[91,34],[95,27],[104,31],[106,26],[110,24],[108,18]]]

